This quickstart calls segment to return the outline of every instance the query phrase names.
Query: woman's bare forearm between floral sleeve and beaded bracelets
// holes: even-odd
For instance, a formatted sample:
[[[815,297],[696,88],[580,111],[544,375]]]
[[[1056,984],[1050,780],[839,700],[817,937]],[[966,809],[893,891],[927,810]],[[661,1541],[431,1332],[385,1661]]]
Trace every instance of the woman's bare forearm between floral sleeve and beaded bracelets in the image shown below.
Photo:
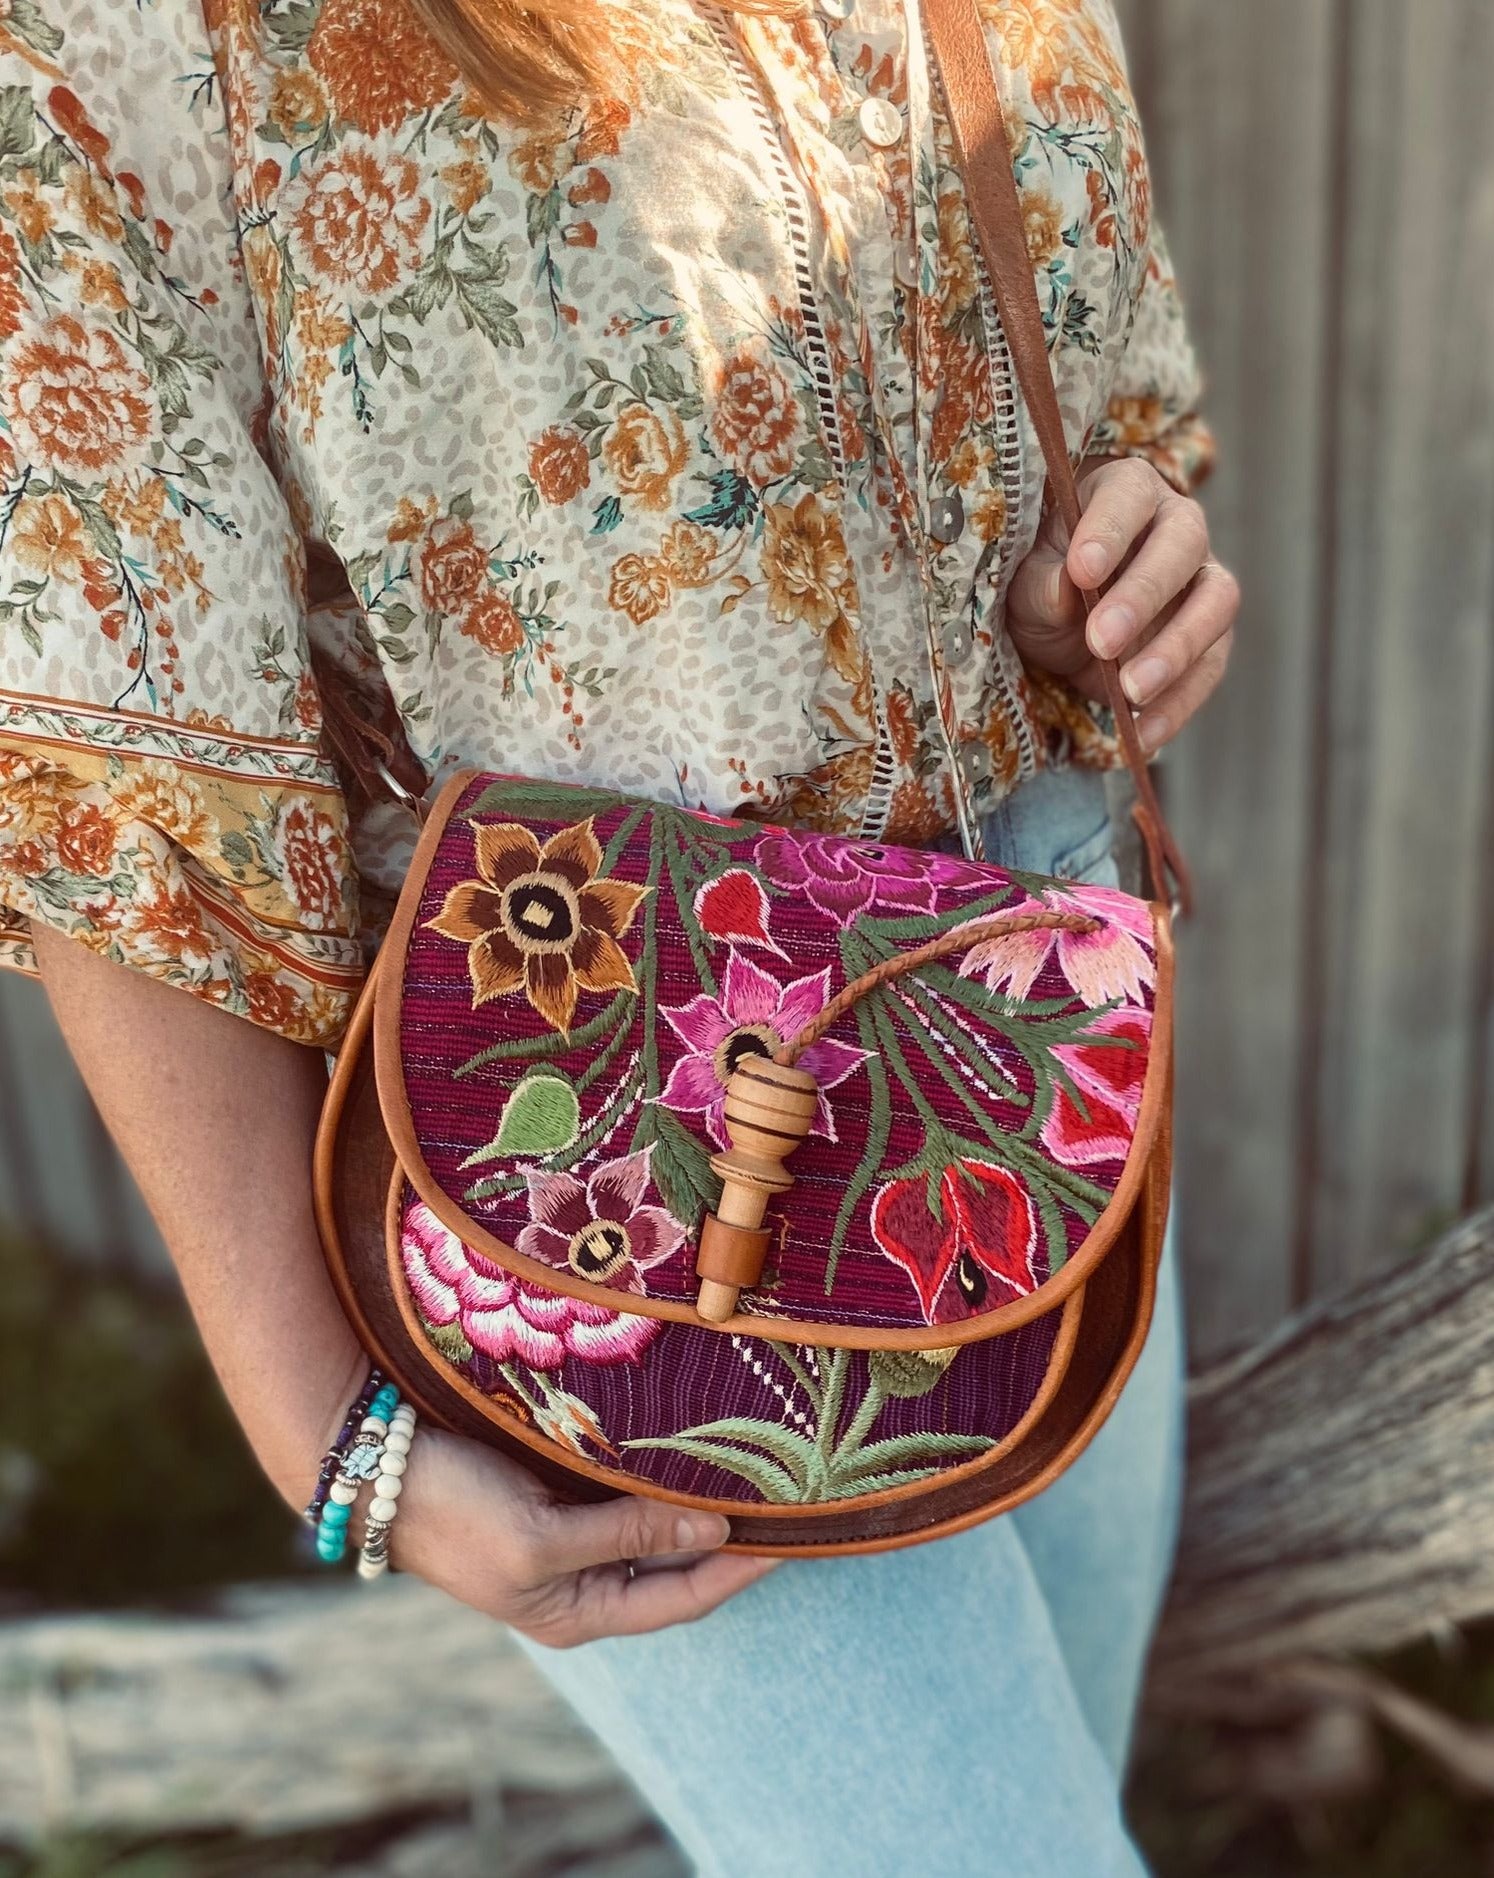
[[[235,1414],[293,1504],[364,1373],[312,1215],[323,1057],[38,930],[41,978]]]

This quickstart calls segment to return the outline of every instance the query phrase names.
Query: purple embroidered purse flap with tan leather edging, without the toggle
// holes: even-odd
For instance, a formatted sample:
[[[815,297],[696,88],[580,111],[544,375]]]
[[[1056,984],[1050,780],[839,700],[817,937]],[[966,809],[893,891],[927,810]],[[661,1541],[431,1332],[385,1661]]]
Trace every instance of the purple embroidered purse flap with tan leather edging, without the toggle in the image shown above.
[[[1130,1211],[1160,1119],[1154,909],[944,853],[492,776],[449,785],[381,967],[379,1095],[432,1211],[612,1311],[694,1318],[724,1084],[880,962],[993,915],[800,1057],[818,1082],[760,1333],[950,1345],[1051,1309]]]

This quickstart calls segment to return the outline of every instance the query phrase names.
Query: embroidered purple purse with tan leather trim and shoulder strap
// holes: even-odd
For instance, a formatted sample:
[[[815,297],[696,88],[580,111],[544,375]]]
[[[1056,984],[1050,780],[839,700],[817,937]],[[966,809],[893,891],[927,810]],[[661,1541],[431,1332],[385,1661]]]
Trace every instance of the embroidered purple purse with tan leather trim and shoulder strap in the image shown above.
[[[982,28],[925,11],[1072,526]],[[1062,1472],[1136,1363],[1171,1014],[1160,900],[469,772],[338,1059],[327,1258],[426,1416],[578,1499],[709,1506],[755,1551],[933,1538]]]

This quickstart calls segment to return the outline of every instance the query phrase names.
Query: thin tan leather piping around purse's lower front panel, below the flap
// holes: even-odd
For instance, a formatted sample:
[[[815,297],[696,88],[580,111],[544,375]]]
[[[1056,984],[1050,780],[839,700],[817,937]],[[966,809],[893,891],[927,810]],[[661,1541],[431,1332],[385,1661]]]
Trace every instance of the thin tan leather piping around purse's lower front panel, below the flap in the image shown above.
[[[409,1298],[409,1286],[405,1285],[404,1270],[400,1266],[400,1196],[404,1191],[404,1172],[396,1164],[389,1181],[389,1196],[385,1202],[385,1247],[387,1264],[383,1271],[383,1283],[389,1286],[390,1296],[400,1311],[400,1318],[405,1328],[409,1343],[415,1347],[424,1362],[426,1369],[435,1369],[449,1390],[454,1390],[464,1401],[479,1410],[494,1427],[503,1429],[512,1440],[524,1442],[537,1454],[542,1454],[548,1461],[567,1472],[582,1474],[587,1480],[595,1480],[601,1485],[614,1487],[621,1493],[642,1493],[648,1499],[668,1501],[672,1506],[698,1506],[704,1512],[726,1514],[728,1517],[741,1516],[741,1501],[709,1499],[696,1493],[668,1493],[664,1487],[653,1485],[653,1482],[640,1478],[638,1474],[629,1474],[621,1467],[606,1467],[601,1461],[589,1461],[586,1455],[571,1454],[569,1448],[561,1448],[557,1442],[550,1440],[548,1435],[541,1435],[535,1429],[516,1422],[511,1414],[490,1397],[484,1395],[475,1384],[467,1382],[464,1375],[456,1369],[449,1369],[439,1363],[439,1356],[430,1348],[426,1333],[420,1328],[420,1318]],[[612,1294],[617,1296],[616,1292]],[[614,1305],[616,1309],[616,1305]],[[946,1467],[938,1474],[938,1482],[968,1480],[985,1469],[997,1467],[1019,1442],[1027,1440],[1036,1424],[1045,1414],[1049,1403],[1059,1392],[1059,1386],[1068,1373],[1070,1362],[1074,1360],[1074,1347],[1079,1337],[1079,1326],[1083,1322],[1083,1290],[1075,1292],[1074,1298],[1064,1305],[1062,1318],[1059,1322],[1059,1333],[1053,1339],[1053,1352],[1047,1360],[1047,1369],[1044,1373],[1042,1388],[1029,1403],[1027,1414],[1017,1422],[1017,1425],[1004,1435],[991,1450],[980,1455],[976,1461],[961,1461],[957,1467]],[[439,1365],[439,1367],[437,1367]],[[409,1365],[405,1363],[405,1369]],[[394,1375],[402,1375],[396,1367]],[[907,1487],[884,1487],[880,1493],[865,1493],[856,1501],[843,1502],[845,1506],[875,1508],[892,1506],[901,1501],[916,1501],[927,1495],[929,1482],[916,1480]],[[822,1519],[824,1504],[815,1506],[773,1506],[775,1519]]]

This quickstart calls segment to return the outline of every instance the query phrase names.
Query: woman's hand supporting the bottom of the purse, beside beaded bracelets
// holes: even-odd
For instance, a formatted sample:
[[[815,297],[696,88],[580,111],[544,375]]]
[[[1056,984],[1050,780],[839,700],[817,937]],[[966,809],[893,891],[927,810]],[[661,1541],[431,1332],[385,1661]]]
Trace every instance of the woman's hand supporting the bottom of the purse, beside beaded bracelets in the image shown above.
[[[704,1617],[775,1564],[719,1553],[721,1514],[636,1495],[572,1506],[439,1429],[417,1429],[404,1478],[390,1562],[554,1649]]]

